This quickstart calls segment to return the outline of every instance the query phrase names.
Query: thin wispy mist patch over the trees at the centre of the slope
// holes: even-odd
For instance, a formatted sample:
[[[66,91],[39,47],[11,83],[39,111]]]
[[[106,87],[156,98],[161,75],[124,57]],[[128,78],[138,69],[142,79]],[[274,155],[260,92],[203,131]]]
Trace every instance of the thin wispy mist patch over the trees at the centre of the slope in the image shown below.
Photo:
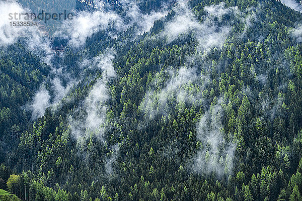
[[[154,119],[159,114],[168,114],[170,111],[168,105],[170,102],[174,102],[174,99],[177,103],[194,103],[200,96],[198,91],[202,91],[200,89],[208,81],[207,77],[198,76],[194,68],[169,69],[166,70],[166,73],[168,74],[167,80],[158,78],[159,73],[155,76],[152,83],[155,89],[146,92],[139,106],[140,112],[149,119]],[[195,85],[198,91],[195,87],[189,91],[188,87],[194,85],[198,80],[200,81],[199,85]],[[167,81],[166,84],[165,81]],[[164,87],[162,88],[161,85]]]

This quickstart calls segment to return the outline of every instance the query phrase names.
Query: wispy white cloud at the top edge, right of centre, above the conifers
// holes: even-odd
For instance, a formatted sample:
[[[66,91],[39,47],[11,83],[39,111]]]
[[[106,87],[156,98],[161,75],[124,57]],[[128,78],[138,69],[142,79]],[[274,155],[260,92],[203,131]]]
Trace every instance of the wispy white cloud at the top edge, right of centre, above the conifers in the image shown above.
[[[206,15],[198,22],[187,2],[178,1],[174,10],[176,16],[166,24],[161,35],[167,37],[167,42],[171,43],[183,35],[193,33],[201,50],[221,47],[231,31],[230,17],[239,13],[237,8],[225,8],[224,3],[220,3],[205,7]],[[228,16],[229,19],[226,18]]]

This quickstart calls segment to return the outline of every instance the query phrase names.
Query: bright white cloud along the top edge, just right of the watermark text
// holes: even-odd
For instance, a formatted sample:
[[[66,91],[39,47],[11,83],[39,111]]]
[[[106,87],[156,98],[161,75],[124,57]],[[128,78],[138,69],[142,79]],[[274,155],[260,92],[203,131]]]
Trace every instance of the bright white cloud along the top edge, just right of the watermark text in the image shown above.
[[[149,31],[154,22],[167,15],[167,6],[159,12],[152,11],[143,14],[138,5],[133,2],[123,1],[125,16],[113,11],[103,11],[102,7],[95,12],[79,12],[73,20],[65,21],[61,31],[54,35],[69,38],[69,45],[73,48],[81,48],[86,39],[101,30],[106,30],[109,36],[116,37],[119,32],[126,31],[130,26],[136,25],[135,35],[141,35]]]

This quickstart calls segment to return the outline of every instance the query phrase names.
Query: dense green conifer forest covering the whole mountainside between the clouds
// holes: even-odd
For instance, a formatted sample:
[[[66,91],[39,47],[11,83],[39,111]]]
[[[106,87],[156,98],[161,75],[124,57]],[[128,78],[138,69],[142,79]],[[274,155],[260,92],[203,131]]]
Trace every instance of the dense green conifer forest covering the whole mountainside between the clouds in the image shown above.
[[[190,9],[202,23],[204,7],[219,2],[193,0]],[[147,12],[160,4],[139,6]],[[300,200],[302,46],[289,34],[300,14],[279,1],[225,1],[231,6],[257,20],[251,27],[234,22],[223,46],[207,52],[199,51],[194,34],[172,43],[157,37],[174,12],[135,39],[131,28],[116,39],[100,31],[84,50],[66,47],[59,59],[79,76],[75,67],[87,55],[117,51],[102,138],[85,131],[81,143],[69,116],[81,110],[102,71],[85,69],[85,81],[70,89],[59,110],[32,121],[20,109],[49,66],[18,44],[1,52],[1,188],[37,201]],[[182,66],[200,77],[169,90]],[[223,143],[211,150],[198,124],[208,113],[214,121],[218,105],[221,126],[211,136],[218,133]],[[216,159],[226,148],[234,152]],[[195,169],[200,151],[205,165],[218,161],[221,168]]]

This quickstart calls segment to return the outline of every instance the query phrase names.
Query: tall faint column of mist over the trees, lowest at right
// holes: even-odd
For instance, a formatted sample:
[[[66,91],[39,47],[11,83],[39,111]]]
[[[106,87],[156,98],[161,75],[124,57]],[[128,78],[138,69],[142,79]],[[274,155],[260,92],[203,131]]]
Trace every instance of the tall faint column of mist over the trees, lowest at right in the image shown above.
[[[219,177],[232,173],[236,150],[236,144],[225,139],[222,104],[223,100],[219,99],[196,125],[196,137],[201,143],[193,165],[198,173],[215,172]]]

